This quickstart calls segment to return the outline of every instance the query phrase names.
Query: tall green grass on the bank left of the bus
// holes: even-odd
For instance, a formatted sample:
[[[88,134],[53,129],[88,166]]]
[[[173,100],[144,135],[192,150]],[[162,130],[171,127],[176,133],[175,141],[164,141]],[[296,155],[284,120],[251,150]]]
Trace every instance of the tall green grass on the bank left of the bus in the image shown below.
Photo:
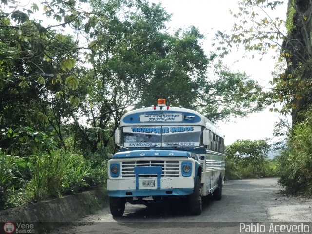
[[[107,161],[64,150],[28,158],[0,151],[0,210],[103,186]]]

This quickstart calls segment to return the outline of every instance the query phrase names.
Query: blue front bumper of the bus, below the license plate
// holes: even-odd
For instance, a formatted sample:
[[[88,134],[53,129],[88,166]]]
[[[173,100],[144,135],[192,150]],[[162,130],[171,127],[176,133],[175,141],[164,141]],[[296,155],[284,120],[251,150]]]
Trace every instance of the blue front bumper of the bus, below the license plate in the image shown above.
[[[172,191],[172,194],[167,194],[166,191]],[[140,189],[140,190],[109,190],[108,196],[114,197],[134,197],[134,196],[182,196],[193,193],[193,188],[185,189]],[[132,195],[126,195],[132,193]]]

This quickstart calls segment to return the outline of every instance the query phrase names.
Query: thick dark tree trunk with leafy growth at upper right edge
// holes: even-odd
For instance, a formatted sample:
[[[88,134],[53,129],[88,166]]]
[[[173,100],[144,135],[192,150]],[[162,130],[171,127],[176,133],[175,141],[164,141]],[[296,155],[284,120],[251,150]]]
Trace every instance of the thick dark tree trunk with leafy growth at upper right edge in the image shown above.
[[[293,9],[295,13],[291,17]],[[312,0],[289,0],[287,14],[288,35],[283,41],[282,52],[290,56],[284,56],[287,61],[284,80],[288,82],[291,74],[297,82],[290,101],[292,124],[295,124],[304,120],[299,113],[312,103],[311,85],[301,87],[302,84],[309,85],[312,79]]]

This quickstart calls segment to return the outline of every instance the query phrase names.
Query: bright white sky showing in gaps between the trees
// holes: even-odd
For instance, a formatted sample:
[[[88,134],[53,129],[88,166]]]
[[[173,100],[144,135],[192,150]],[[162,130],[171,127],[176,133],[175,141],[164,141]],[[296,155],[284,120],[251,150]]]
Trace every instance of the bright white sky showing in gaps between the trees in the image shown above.
[[[214,50],[211,46],[212,38],[217,30],[229,31],[234,23],[229,9],[237,12],[236,0],[149,0],[152,3],[161,3],[168,13],[172,14],[168,23],[169,30],[175,31],[180,27],[194,25],[205,36],[203,49],[208,55]],[[286,18],[287,5],[281,6],[275,14],[281,19]],[[269,87],[273,79],[271,72],[275,66],[272,54],[265,55],[260,61],[256,59],[243,59],[243,51],[234,51],[224,59],[223,63],[233,72],[246,72],[250,78],[257,80],[262,87]],[[238,60],[238,61],[237,61]],[[279,115],[272,113],[269,108],[259,113],[253,113],[245,118],[233,118],[230,122],[218,122],[217,125],[225,135],[225,144],[231,144],[238,139],[265,139],[273,138],[275,122]],[[274,141],[274,139],[273,139]]]

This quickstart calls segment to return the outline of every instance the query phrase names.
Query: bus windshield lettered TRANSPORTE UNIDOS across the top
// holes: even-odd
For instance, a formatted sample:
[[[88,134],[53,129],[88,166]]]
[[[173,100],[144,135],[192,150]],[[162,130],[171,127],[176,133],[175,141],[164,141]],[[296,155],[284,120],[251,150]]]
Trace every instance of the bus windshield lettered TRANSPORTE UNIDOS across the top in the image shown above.
[[[123,127],[125,147],[199,146],[201,126],[137,126]]]

